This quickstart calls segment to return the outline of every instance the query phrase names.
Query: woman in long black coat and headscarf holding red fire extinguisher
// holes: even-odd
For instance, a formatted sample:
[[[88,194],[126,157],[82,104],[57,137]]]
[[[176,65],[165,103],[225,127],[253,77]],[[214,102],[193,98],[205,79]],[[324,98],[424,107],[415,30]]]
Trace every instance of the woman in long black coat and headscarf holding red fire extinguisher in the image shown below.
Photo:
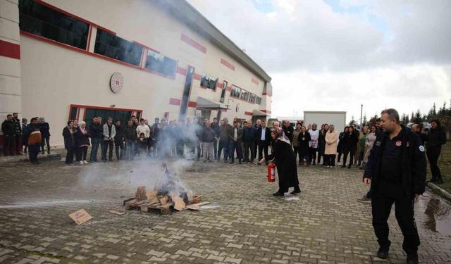
[[[297,168],[295,153],[292,150],[290,140],[283,133],[282,128],[277,127],[271,131],[271,137],[275,141],[273,145],[273,153],[268,155],[268,161],[274,160],[277,172],[279,175],[279,189],[273,196],[284,196],[288,192],[288,188],[294,187],[295,190],[290,194],[299,194],[299,180],[297,179]],[[264,163],[265,158],[262,158],[259,164]]]

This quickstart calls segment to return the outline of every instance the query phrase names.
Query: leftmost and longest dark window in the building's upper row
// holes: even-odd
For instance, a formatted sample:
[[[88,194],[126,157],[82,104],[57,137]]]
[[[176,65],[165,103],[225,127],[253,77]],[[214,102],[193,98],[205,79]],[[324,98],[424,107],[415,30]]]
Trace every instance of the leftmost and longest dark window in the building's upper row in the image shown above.
[[[89,25],[42,6],[33,0],[19,1],[20,30],[56,42],[86,49]]]

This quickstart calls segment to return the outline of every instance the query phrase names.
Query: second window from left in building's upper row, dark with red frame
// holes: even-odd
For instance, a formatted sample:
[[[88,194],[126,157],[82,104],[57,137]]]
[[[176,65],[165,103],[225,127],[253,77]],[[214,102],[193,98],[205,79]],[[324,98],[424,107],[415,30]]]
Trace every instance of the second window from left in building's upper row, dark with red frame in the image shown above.
[[[97,29],[94,53],[139,66],[142,46],[117,37],[110,32]]]

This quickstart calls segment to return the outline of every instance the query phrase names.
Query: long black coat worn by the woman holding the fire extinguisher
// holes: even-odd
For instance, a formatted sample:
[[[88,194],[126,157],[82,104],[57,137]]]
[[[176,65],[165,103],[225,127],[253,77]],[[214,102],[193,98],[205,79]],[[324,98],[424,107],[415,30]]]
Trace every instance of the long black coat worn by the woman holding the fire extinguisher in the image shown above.
[[[268,155],[268,160],[274,159],[279,177],[279,191],[287,192],[290,187],[298,187],[295,153],[291,145],[277,140],[273,144],[273,153]]]

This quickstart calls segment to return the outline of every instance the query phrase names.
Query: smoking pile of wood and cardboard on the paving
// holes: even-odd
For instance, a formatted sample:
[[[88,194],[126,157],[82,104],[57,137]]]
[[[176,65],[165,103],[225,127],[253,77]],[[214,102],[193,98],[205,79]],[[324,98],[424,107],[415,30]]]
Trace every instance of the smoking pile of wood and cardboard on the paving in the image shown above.
[[[202,195],[193,196],[191,191],[187,191],[182,182],[175,175],[171,175],[166,163],[163,163],[163,168],[163,177],[154,190],[146,191],[145,186],[138,187],[135,197],[123,202],[125,210],[139,209],[145,213],[159,210],[162,215],[167,215],[172,208],[178,211],[199,210],[200,206],[208,203],[200,203]]]

